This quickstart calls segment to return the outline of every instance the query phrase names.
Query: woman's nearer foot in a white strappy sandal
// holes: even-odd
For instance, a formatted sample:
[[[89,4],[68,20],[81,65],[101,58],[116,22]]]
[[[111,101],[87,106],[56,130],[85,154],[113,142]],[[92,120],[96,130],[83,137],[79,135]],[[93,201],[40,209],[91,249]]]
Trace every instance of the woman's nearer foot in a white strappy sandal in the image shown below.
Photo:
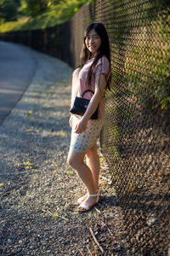
[[[92,209],[99,201],[101,197],[99,194],[88,195],[87,199],[82,201],[82,204],[77,208],[79,212],[87,212]]]

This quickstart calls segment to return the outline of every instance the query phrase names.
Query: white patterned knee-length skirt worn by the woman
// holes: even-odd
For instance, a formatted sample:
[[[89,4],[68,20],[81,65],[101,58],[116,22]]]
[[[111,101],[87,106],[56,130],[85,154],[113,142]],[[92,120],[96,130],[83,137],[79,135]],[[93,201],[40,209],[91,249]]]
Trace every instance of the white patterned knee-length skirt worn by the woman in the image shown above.
[[[103,127],[104,119],[89,119],[85,132],[75,133],[77,122],[82,116],[73,115],[71,131],[71,149],[74,152],[86,153],[96,143],[99,133]]]

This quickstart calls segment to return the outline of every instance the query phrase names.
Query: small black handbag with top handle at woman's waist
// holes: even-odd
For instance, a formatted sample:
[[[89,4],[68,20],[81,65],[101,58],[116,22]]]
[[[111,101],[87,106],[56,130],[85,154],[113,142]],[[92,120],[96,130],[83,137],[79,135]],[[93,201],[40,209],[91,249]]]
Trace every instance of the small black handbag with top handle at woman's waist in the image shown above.
[[[76,97],[73,107],[70,110],[70,113],[76,113],[78,115],[83,115],[86,112],[86,109],[88,108],[88,103],[90,100],[84,99],[83,96],[86,92],[91,91],[94,94],[93,90],[84,90],[82,93],[82,97]],[[99,108],[99,106],[98,106]],[[98,108],[95,110],[93,115],[90,119],[98,119]]]

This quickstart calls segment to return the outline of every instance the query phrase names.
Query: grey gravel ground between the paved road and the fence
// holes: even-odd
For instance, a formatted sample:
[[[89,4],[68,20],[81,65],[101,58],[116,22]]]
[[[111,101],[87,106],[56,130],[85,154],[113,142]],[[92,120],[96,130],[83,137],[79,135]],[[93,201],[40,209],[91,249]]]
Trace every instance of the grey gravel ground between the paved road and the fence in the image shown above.
[[[103,200],[82,214],[74,205],[86,191],[66,163],[71,68],[34,54],[32,84],[0,127],[0,254],[125,255],[122,212],[102,155]]]

